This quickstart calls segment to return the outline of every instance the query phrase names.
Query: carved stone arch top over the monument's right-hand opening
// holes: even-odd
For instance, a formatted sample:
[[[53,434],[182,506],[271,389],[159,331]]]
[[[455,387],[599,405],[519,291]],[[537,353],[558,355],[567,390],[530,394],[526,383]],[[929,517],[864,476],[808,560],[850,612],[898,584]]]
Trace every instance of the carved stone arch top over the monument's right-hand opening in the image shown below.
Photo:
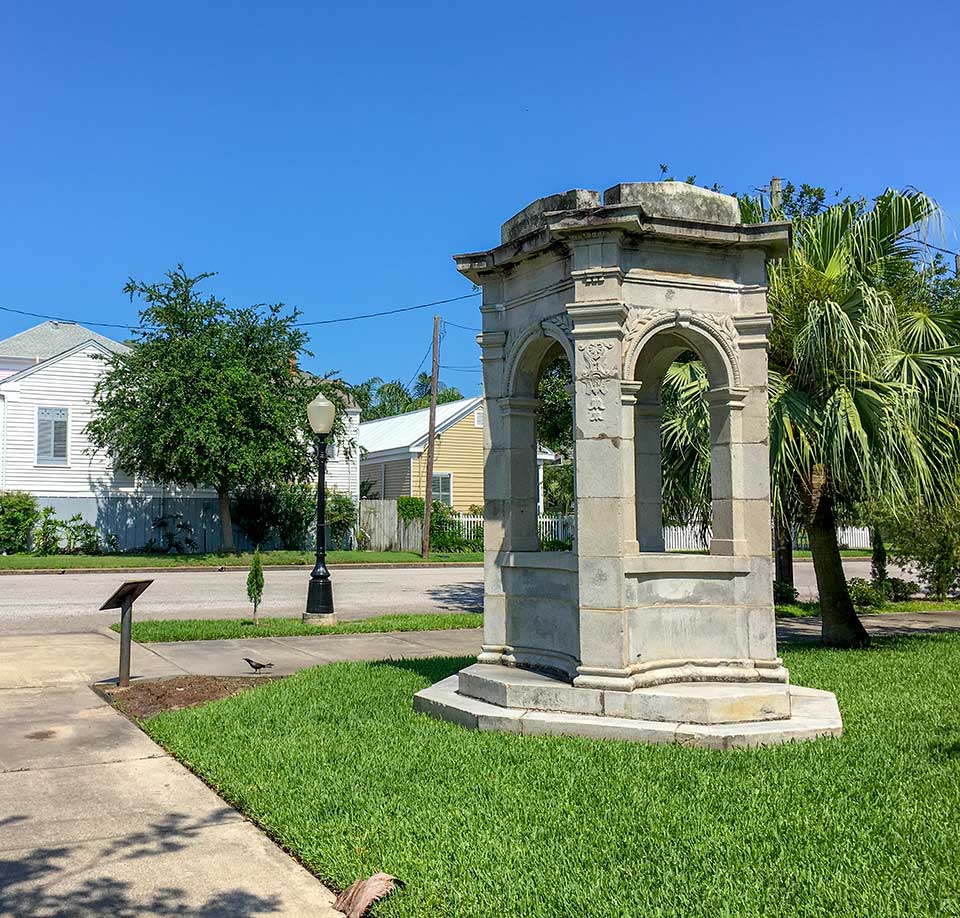
[[[631,313],[623,348],[624,379],[643,379],[639,366],[646,346],[665,332],[684,342],[707,367],[712,389],[738,389],[742,386],[737,329],[729,315],[697,313],[686,310],[647,309]],[[657,367],[654,375],[662,378],[666,367]],[[647,380],[648,384],[652,379]],[[656,383],[659,386],[659,381]]]

